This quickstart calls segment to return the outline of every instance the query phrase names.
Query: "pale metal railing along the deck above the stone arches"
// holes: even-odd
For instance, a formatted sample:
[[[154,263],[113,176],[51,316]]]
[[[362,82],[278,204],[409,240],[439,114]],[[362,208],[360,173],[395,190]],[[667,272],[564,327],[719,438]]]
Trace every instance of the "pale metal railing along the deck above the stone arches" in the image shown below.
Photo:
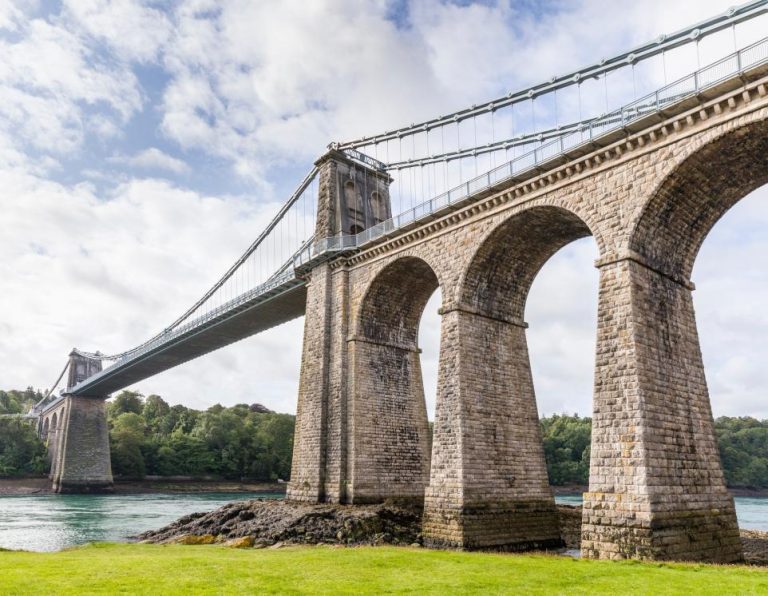
[[[525,153],[497,168],[474,177],[440,195],[368,228],[353,236],[323,238],[314,245],[313,251],[305,251],[295,261],[296,266],[306,265],[314,258],[328,252],[353,250],[382,238],[392,232],[435,216],[450,205],[467,200],[472,195],[492,190],[494,187],[535,171],[547,162],[569,151],[588,146],[599,137],[626,128],[631,123],[658,112],[664,107],[685,98],[696,96],[727,79],[768,62],[768,37],[755,42],[717,62],[665,85],[617,110],[584,123],[578,130],[562,135],[541,147]]]

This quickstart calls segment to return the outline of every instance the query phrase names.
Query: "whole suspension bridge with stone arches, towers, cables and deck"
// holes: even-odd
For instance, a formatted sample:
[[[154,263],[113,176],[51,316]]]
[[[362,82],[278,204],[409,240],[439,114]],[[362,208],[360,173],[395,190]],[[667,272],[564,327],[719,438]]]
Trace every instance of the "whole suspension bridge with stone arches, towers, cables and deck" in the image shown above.
[[[523,306],[543,262],[593,235],[595,424],[604,434],[593,437],[585,554],[738,559],[688,277],[707,225],[768,171],[767,24],[768,1],[749,2],[492,101],[331,143],[178,319],[120,353],[72,352],[65,392],[51,390],[35,410],[41,424],[58,413],[55,483],[111,483],[108,465],[94,472],[77,457],[78,437],[90,434],[91,453],[108,458],[111,393],[306,315],[289,498],[416,498],[430,544],[555,544]],[[719,153],[707,154],[719,138]],[[691,156],[702,155],[725,169],[693,168]],[[737,172],[741,163],[749,170]],[[725,198],[701,194],[707,188]],[[415,329],[438,286],[441,377],[429,441]],[[674,342],[656,336],[659,325]],[[489,338],[508,349],[487,353]],[[480,353],[482,374],[471,369]],[[670,394],[683,405],[653,405]],[[510,408],[519,419],[503,414]],[[681,442],[690,451],[681,454]],[[681,492],[688,498],[673,503]]]

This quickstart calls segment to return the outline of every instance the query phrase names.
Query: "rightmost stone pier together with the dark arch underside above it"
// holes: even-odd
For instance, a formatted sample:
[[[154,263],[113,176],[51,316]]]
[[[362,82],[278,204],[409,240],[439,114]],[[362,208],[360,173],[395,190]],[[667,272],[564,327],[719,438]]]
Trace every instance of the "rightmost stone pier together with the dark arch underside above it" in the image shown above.
[[[742,557],[689,279],[715,223],[768,182],[768,122],[692,137],[682,149],[627,226],[628,250],[601,264],[586,557]]]

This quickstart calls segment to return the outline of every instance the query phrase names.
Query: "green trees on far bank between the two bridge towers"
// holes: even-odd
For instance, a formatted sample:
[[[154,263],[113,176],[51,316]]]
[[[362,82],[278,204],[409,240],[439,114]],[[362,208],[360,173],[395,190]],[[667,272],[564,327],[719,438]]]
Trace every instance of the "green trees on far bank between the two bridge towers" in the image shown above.
[[[205,412],[124,391],[108,407],[112,471],[117,476],[287,479],[294,416],[254,404]]]

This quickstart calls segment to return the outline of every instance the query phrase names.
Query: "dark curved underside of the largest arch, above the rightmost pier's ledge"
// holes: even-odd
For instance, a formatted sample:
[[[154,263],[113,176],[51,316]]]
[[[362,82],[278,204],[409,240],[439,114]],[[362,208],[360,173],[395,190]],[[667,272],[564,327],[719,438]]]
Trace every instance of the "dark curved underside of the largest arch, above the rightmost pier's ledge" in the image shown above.
[[[720,218],[768,183],[768,120],[745,124],[692,151],[650,195],[629,248],[667,275],[690,278]]]

